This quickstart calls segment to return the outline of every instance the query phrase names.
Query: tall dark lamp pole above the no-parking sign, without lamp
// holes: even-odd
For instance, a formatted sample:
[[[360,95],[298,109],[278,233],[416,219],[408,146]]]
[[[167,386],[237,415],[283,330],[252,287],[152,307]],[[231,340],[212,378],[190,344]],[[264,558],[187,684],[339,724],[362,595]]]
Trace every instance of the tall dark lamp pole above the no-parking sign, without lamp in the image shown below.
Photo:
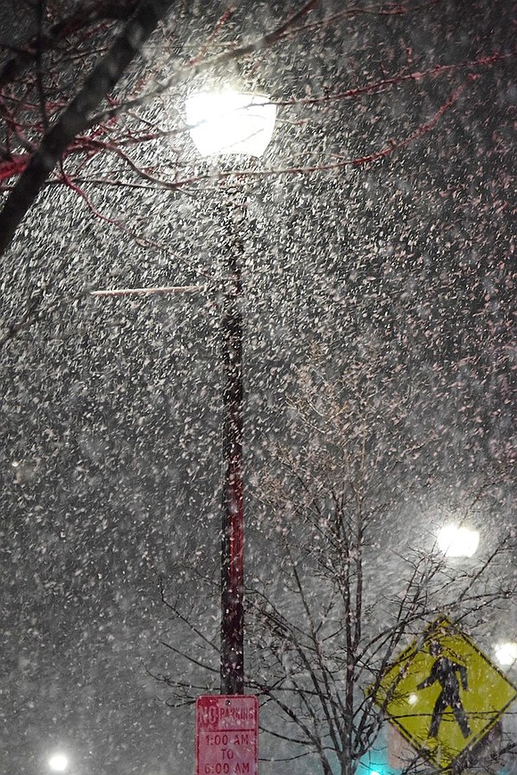
[[[226,207],[225,286],[222,334],[225,365],[223,456],[225,466],[221,547],[222,695],[244,693],[244,501],[242,459],[242,225],[240,194]]]

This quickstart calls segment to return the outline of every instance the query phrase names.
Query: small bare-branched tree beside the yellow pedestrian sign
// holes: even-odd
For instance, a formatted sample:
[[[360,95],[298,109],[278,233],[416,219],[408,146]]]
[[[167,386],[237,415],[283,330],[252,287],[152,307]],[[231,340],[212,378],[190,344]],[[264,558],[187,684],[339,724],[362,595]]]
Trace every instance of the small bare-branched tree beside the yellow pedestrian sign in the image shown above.
[[[372,688],[440,615],[483,632],[482,622],[516,591],[502,570],[513,539],[505,535],[461,573],[439,553],[433,525],[417,506],[423,499],[424,508],[431,486],[432,465],[423,460],[432,460],[437,440],[415,441],[411,401],[382,358],[357,359],[341,375],[332,360],[316,361],[300,369],[295,393],[290,443],[278,443],[274,473],[253,473],[259,531],[250,539],[247,686],[261,701],[262,755],[307,757],[308,771],[319,767],[324,775],[350,775],[361,765],[382,770],[387,721]],[[464,518],[495,484],[472,492]],[[382,524],[393,526],[397,512],[402,524],[394,538]],[[405,535],[418,536],[418,525],[420,546],[411,548]],[[201,589],[208,600],[210,585]],[[190,661],[193,674],[184,682],[174,673],[156,677],[170,689],[168,702],[181,705],[195,691],[213,690],[217,641],[193,625],[166,586],[162,599],[176,622],[164,645]],[[188,637],[184,627],[193,636],[188,653],[178,647]],[[455,697],[442,686],[450,705]],[[508,741],[491,750],[490,766],[512,750]],[[488,766],[487,755],[478,746],[471,765]],[[429,763],[413,751],[400,767],[424,772]]]

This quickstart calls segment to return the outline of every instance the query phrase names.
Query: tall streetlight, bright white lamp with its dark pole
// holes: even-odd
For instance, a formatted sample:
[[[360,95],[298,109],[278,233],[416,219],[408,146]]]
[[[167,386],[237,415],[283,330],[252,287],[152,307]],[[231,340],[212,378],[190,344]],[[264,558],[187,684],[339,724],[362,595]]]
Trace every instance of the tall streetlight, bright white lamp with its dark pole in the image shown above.
[[[201,156],[259,157],[275,128],[275,105],[266,95],[230,89],[201,92],[186,101],[186,120]],[[234,202],[229,221],[238,228],[245,206]],[[221,531],[220,692],[244,693],[244,557],[242,460],[242,239],[227,251],[223,294],[222,334],[226,384],[223,390],[223,514]]]

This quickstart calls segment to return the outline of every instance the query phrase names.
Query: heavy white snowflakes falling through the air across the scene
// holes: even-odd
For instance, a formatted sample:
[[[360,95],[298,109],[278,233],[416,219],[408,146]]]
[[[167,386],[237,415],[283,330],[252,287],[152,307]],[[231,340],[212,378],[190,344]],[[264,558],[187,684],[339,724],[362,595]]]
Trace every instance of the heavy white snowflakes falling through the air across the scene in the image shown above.
[[[0,11],[3,68],[7,44],[37,36],[37,5]],[[277,122],[262,159],[233,167],[196,157],[185,95],[235,78],[231,58],[213,60],[278,29],[292,4],[212,5],[172,4],[113,92],[154,98],[70,145],[4,253],[5,772],[193,771],[192,701],[218,691],[220,308],[241,241],[247,672],[264,727],[283,736],[261,733],[260,771],[324,771],[314,746],[289,762],[300,746],[285,738],[300,730],[264,703],[276,677],[303,711],[314,676],[293,644],[314,646],[308,609],[343,715],[400,611],[399,646],[438,613],[494,660],[513,642],[511,4],[314,4],[242,56],[241,78],[272,95]],[[77,4],[46,6],[45,29]],[[111,23],[42,56],[53,120]],[[0,78],[3,202],[44,131],[37,61],[23,73]],[[247,201],[239,237],[235,196]],[[171,287],[188,291],[91,293]],[[463,563],[436,543],[456,522],[480,532]],[[370,758],[355,749],[361,773],[375,756],[386,768],[377,732],[363,730]],[[514,738],[510,714],[504,732]],[[330,761],[351,772],[335,750]]]

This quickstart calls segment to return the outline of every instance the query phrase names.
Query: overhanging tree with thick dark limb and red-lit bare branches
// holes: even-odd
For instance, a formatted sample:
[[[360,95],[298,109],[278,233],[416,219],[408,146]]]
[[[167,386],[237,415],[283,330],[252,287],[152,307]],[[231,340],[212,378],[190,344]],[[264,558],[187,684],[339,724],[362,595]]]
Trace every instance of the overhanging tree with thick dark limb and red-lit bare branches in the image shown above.
[[[434,11],[435,4],[434,0],[414,7],[358,4],[332,12],[332,4],[327,8],[321,0],[309,0],[290,13],[278,12],[266,2],[255,11],[269,20],[268,29],[263,31],[263,25],[257,25],[251,39],[246,39],[250,37],[250,8],[246,4],[239,9],[230,6],[218,17],[206,9],[201,23],[195,9],[187,10],[172,0],[125,0],[121,4],[90,0],[81,12],[73,4],[33,0],[24,12],[15,14],[12,10],[12,19],[6,11],[6,29],[11,26],[15,30],[17,42],[4,44],[0,70],[0,185],[7,194],[0,212],[0,252],[12,242],[45,186],[70,186],[88,203],[91,213],[102,218],[91,185],[144,186],[149,190],[155,186],[166,191],[199,182],[199,173],[186,170],[179,154],[172,167],[169,163],[148,163],[150,146],[156,146],[163,136],[176,142],[185,133],[177,105],[167,121],[157,120],[156,106],[181,99],[185,88],[205,76],[212,84],[234,77],[237,65],[242,66],[245,81],[252,87],[261,78],[261,70],[266,73],[267,57],[277,59],[279,73],[284,62],[296,55],[297,47],[312,51],[315,72],[322,72],[322,77],[316,78],[321,84],[319,92],[310,87],[300,94],[285,65],[284,83],[272,83],[276,90],[272,96],[283,111],[283,120],[291,126],[313,125],[313,149],[302,154],[304,161],[296,153],[286,156],[267,174],[308,175],[367,167],[418,144],[443,124],[447,111],[459,109],[462,95],[479,88],[484,73],[494,68],[504,70],[513,56],[504,47],[492,47],[461,61],[445,63],[421,55],[421,61],[416,62],[408,45],[401,47],[393,67],[390,28],[400,26],[401,19],[407,19],[409,27],[418,25],[423,14]],[[195,45],[189,41],[197,31],[194,25],[199,28]],[[366,59],[370,53],[365,49],[363,62],[354,54],[343,67],[340,45],[335,42],[350,25],[366,33],[370,27],[373,36],[382,35],[383,28],[390,33],[375,62]],[[29,36],[25,29],[30,30]],[[321,62],[325,56],[326,64]],[[167,67],[168,58],[174,62],[172,67]],[[74,76],[78,68],[86,72],[86,80],[77,87]],[[325,79],[326,70],[332,74],[332,85]],[[441,82],[446,87],[437,101],[433,92]],[[417,109],[413,120],[397,127],[386,115],[382,96],[402,90],[408,91],[415,106],[422,102],[428,105],[424,114]],[[361,117],[365,100],[371,115],[370,142],[352,153],[339,144],[331,153],[324,153],[316,142],[322,128],[331,128],[341,120],[350,103],[357,104],[353,110]],[[178,151],[181,147],[179,143]],[[118,161],[119,167],[113,167],[113,161]],[[102,169],[104,177],[99,174]],[[226,170],[222,176],[232,174]],[[203,179],[213,177],[201,174]],[[122,220],[106,218],[119,225]]]

